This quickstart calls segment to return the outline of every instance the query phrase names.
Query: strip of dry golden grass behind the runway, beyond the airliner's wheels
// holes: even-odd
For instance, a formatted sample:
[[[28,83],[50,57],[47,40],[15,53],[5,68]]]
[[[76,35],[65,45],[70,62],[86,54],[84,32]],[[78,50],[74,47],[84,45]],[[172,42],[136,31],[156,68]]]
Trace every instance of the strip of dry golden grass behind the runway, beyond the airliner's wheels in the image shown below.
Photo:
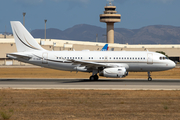
[[[89,78],[91,73],[59,71],[48,68],[0,68],[0,78]],[[153,78],[180,79],[180,68],[153,72]],[[104,77],[100,77],[104,78]],[[146,72],[130,72],[126,78],[146,78]]]

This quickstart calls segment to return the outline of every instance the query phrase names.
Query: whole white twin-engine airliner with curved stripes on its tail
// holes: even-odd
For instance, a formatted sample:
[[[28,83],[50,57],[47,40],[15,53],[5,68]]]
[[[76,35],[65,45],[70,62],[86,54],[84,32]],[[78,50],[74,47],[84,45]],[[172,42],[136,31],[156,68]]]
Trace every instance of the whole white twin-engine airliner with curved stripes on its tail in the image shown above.
[[[19,21],[12,21],[11,27],[18,52],[7,54],[8,58],[57,70],[92,72],[90,80],[98,80],[98,74],[122,78],[128,72],[147,72],[151,81],[151,72],[175,67],[165,55],[149,51],[48,51]]]

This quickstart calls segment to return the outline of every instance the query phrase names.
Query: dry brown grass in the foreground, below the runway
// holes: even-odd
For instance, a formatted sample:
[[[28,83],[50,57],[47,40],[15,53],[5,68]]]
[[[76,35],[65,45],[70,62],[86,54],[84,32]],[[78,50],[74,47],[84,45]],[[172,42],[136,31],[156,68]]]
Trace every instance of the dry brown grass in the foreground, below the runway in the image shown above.
[[[1,89],[0,111],[11,120],[178,120],[180,91]]]

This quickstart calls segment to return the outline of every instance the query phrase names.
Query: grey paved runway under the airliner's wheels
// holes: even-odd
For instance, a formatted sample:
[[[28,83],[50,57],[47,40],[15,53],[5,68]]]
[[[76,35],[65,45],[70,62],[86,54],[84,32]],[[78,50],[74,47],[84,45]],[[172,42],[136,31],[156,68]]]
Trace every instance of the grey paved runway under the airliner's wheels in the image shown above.
[[[0,79],[0,88],[11,89],[102,89],[180,90],[179,79]]]

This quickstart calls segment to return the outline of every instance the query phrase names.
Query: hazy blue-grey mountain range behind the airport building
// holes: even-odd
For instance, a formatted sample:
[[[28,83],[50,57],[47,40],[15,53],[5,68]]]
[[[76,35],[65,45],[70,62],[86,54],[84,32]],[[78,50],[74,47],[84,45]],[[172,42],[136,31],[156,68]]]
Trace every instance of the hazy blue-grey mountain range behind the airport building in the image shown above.
[[[44,38],[44,29],[33,30],[35,38]],[[106,28],[80,24],[64,31],[50,28],[46,30],[48,39],[66,39],[78,41],[105,42]],[[140,29],[115,28],[115,43],[129,44],[180,44],[180,27],[152,25]]]

